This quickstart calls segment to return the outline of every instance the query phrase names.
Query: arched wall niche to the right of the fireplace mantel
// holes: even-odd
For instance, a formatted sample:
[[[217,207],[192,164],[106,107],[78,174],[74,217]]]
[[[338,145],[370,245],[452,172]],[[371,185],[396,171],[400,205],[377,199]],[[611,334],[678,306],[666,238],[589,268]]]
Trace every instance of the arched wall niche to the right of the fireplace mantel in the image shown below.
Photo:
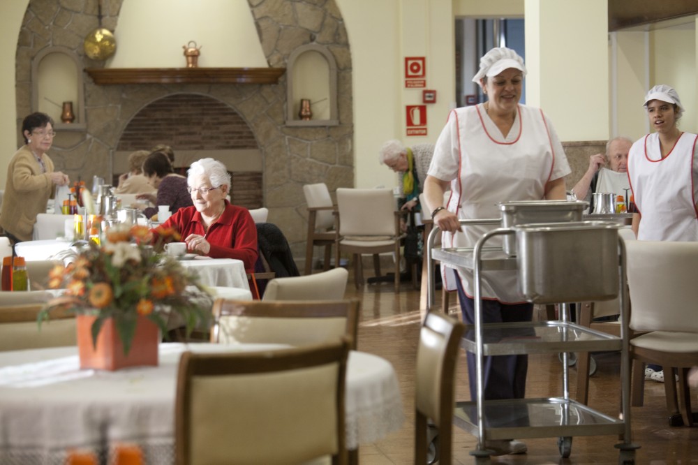
[[[288,57],[286,71],[286,125],[337,126],[337,64],[332,53],[318,44],[302,45]],[[310,101],[312,116],[299,116],[301,101]]]

